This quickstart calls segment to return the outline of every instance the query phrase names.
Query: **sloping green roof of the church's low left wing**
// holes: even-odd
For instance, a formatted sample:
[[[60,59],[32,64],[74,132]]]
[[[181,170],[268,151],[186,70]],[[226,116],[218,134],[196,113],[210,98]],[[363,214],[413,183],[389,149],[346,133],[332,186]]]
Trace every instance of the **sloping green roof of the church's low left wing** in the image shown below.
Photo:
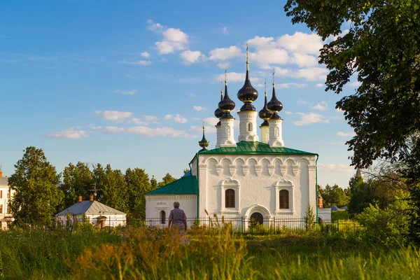
[[[146,195],[197,195],[198,183],[196,176],[183,176],[161,188],[152,190]]]

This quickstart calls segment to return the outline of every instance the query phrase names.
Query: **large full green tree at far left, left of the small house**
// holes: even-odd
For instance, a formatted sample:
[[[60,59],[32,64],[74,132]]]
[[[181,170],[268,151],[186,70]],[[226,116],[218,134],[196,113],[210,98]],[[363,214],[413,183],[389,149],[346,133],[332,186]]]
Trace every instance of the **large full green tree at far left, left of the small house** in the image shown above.
[[[48,162],[42,149],[27,147],[15,165],[8,182],[15,190],[10,201],[14,223],[17,225],[50,225],[62,210],[63,195],[57,188],[59,175]]]

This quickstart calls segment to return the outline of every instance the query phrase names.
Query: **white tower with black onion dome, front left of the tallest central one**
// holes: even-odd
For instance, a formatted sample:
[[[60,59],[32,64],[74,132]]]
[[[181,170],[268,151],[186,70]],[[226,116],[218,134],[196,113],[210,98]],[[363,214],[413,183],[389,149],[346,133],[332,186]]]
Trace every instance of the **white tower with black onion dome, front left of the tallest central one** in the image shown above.
[[[233,123],[235,118],[232,117],[230,111],[235,109],[235,102],[229,98],[228,94],[228,78],[226,74],[227,70],[225,69],[225,97],[219,102],[219,109],[223,111],[223,116],[221,116],[221,133],[219,137],[219,147],[236,147],[236,141],[234,137],[234,127]]]

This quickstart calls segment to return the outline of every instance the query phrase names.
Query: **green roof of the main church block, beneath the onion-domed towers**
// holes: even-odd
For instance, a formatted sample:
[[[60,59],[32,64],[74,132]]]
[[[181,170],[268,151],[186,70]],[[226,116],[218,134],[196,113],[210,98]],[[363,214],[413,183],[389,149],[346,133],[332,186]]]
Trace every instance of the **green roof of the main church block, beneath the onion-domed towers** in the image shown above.
[[[236,147],[219,147],[207,151],[201,151],[199,154],[253,154],[253,155],[317,155],[295,150],[293,148],[278,147],[270,148],[268,144],[261,142],[240,141]]]

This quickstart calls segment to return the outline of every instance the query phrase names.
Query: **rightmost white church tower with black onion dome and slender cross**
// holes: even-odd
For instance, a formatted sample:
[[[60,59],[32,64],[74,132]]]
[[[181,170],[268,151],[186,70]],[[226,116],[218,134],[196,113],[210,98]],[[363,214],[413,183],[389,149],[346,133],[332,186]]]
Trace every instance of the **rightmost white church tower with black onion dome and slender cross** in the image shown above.
[[[283,119],[279,116],[279,111],[283,109],[283,104],[277,100],[276,88],[274,84],[274,69],[273,69],[273,96],[272,99],[267,103],[267,109],[272,111],[273,114],[269,118],[269,141],[270,147],[284,147],[283,135],[281,131],[281,123]]]

